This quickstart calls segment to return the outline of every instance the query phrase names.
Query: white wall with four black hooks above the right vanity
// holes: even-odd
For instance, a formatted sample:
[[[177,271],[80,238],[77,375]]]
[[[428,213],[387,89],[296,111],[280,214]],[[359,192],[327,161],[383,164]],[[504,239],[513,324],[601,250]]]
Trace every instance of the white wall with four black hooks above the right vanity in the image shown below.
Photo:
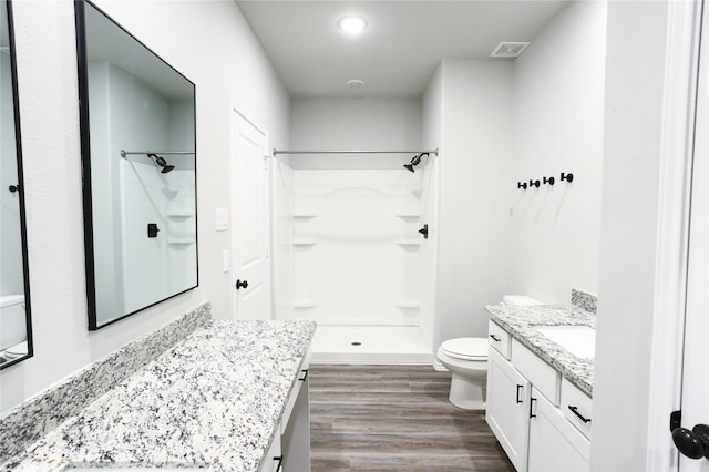
[[[606,3],[575,1],[514,61],[510,289],[549,304],[598,291],[605,44]]]

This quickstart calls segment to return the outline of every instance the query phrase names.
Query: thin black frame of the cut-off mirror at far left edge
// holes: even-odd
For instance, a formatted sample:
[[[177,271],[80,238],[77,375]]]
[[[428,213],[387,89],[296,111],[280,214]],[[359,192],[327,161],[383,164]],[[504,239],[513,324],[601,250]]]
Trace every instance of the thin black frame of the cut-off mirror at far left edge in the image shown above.
[[[14,20],[12,0],[6,0],[8,13],[8,40],[10,47],[10,75],[12,78],[12,106],[14,110],[14,147],[18,161],[18,194],[20,197],[20,235],[22,239],[22,270],[24,271],[24,319],[27,326],[27,356],[0,365],[0,370],[34,356],[32,342],[32,309],[30,304],[30,264],[28,261],[27,218],[24,216],[24,170],[22,167],[22,136],[20,132],[20,98],[18,93],[17,50],[14,44]]]

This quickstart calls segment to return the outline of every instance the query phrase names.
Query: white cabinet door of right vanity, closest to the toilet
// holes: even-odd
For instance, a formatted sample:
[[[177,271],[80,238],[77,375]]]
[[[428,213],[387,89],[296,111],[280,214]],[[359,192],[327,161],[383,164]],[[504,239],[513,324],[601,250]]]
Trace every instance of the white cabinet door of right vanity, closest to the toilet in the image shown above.
[[[485,420],[518,472],[527,470],[530,382],[494,348],[489,349]]]

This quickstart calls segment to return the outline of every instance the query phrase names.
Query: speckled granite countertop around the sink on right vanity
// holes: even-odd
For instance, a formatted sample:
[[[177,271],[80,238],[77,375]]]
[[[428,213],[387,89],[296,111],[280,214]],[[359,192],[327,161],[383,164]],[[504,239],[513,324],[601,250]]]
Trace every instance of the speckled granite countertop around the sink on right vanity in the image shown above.
[[[534,326],[587,326],[596,329],[596,317],[566,305],[487,305],[490,319],[510,332],[532,352],[562,373],[562,377],[593,397],[594,359],[583,359],[552,341]]]

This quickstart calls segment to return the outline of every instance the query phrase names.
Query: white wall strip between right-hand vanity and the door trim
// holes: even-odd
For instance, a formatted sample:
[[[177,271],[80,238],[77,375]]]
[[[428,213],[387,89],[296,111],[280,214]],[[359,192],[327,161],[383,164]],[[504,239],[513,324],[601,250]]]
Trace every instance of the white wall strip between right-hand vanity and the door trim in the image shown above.
[[[667,18],[664,1],[608,4],[595,471],[647,470]]]

